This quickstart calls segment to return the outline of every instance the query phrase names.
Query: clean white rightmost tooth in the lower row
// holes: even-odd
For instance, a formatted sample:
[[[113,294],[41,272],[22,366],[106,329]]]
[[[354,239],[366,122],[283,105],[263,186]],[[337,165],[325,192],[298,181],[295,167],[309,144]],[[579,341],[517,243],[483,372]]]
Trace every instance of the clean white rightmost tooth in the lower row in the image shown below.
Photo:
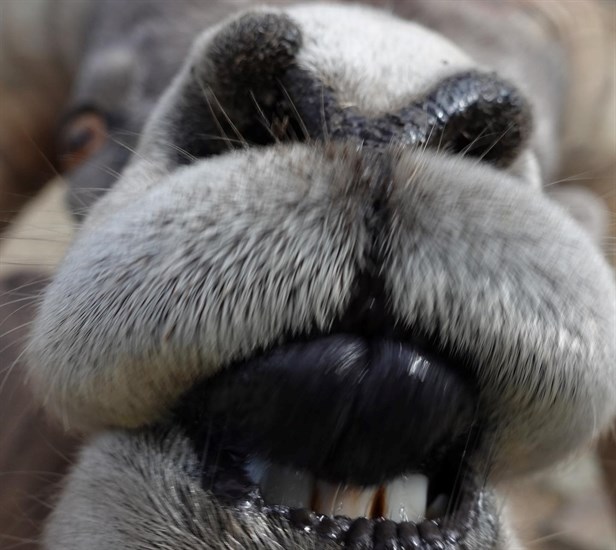
[[[428,478],[421,474],[396,478],[385,488],[385,517],[395,521],[421,521],[426,515]]]

